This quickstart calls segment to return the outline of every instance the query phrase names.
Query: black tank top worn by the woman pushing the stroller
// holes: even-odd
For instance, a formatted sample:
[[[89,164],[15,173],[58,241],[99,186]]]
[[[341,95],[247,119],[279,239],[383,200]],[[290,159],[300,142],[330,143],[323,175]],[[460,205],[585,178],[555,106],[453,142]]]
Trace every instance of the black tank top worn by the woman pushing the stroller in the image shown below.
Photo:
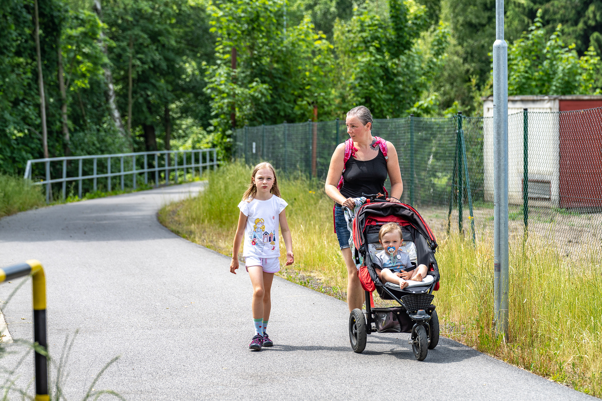
[[[362,194],[382,193],[387,176],[385,156],[378,150],[376,158],[359,161],[353,156],[347,160],[343,173],[341,195],[346,198],[359,198]]]

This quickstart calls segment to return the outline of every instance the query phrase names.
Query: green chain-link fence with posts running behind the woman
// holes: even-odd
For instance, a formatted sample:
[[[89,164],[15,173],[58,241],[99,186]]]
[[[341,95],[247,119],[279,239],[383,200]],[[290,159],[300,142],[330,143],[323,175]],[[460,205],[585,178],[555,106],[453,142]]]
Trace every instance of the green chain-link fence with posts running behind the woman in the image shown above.
[[[554,240],[566,254],[602,242],[602,109],[520,112],[508,117],[509,225],[514,234]],[[435,231],[490,236],[493,119],[374,120],[373,135],[395,145],[404,191]],[[326,177],[344,121],[244,127],[235,156],[286,173]]]

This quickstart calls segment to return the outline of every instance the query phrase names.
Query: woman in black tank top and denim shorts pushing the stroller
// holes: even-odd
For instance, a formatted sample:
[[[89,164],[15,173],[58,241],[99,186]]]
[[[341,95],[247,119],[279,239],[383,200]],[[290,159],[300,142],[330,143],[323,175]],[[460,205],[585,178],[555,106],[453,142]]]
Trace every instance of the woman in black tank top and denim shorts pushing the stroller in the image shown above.
[[[350,138],[339,144],[330,159],[326,177],[326,195],[335,201],[335,230],[341,254],[347,266],[347,306],[349,311],[362,308],[364,290],[349,248],[350,233],[341,205],[353,208],[353,198],[362,194],[383,192],[386,177],[391,182],[391,197],[399,199],[403,192],[402,173],[397,151],[391,142],[372,136],[372,114],[365,106],[347,112],[345,121]],[[383,143],[384,142],[384,143]],[[349,159],[346,159],[347,155]],[[342,186],[340,181],[342,179]],[[390,201],[396,201],[387,198]]]

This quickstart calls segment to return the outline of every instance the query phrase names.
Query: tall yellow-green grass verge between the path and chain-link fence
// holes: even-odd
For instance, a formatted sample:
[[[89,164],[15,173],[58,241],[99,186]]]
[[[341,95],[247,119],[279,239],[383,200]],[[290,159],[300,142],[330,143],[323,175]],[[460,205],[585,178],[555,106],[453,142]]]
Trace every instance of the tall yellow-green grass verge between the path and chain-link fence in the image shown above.
[[[250,168],[231,164],[209,176],[199,195],[164,207],[160,221],[194,242],[231,252],[237,204]],[[279,176],[289,203],[294,269],[281,275],[299,284],[345,298],[346,268],[332,228],[332,201],[323,183]],[[492,326],[492,238],[484,232],[476,246],[467,237],[438,233],[436,258],[441,289],[435,304],[442,335],[530,372],[602,396],[602,269],[600,254],[565,259],[535,234],[510,245],[509,338]],[[282,243],[282,242],[281,242]],[[284,254],[284,252],[282,252]],[[377,296],[374,297],[377,301]]]

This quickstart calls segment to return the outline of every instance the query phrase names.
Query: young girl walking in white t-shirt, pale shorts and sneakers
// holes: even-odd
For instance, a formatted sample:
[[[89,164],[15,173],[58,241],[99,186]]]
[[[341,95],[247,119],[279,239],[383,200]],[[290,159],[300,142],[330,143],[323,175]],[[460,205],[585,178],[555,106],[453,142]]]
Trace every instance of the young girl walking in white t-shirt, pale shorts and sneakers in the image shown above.
[[[265,328],[272,309],[270,292],[274,273],[280,270],[278,225],[282,228],[282,238],[287,248],[286,266],[294,262],[293,240],[291,230],[288,228],[287,215],[284,212],[287,205],[280,197],[276,171],[272,165],[265,162],[256,165],[249,188],[238,204],[240,215],[238,215],[238,227],[234,236],[230,263],[230,272],[236,274],[238,249],[244,239],[244,265],[253,286],[251,309],[255,336],[249,344],[249,348],[253,350],[260,350],[262,346],[273,346]]]

